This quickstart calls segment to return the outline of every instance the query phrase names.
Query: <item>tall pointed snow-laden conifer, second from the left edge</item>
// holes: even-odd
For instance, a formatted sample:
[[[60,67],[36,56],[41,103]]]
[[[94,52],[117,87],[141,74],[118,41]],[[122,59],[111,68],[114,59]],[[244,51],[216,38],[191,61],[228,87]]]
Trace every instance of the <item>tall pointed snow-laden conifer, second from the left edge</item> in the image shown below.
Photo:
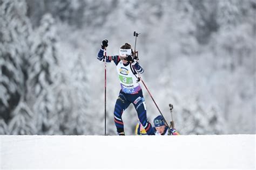
[[[55,21],[50,14],[43,16],[41,25],[32,34],[29,87],[26,101],[36,113],[39,133],[54,134],[58,121],[55,115],[56,98],[52,94],[57,65]]]

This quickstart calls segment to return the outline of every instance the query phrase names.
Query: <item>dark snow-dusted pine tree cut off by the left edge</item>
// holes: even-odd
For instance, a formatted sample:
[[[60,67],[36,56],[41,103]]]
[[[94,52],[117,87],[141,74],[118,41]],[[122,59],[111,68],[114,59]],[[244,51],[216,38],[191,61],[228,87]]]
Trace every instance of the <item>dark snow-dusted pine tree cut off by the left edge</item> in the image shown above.
[[[6,124],[25,93],[31,30],[24,1],[0,1],[0,117]]]

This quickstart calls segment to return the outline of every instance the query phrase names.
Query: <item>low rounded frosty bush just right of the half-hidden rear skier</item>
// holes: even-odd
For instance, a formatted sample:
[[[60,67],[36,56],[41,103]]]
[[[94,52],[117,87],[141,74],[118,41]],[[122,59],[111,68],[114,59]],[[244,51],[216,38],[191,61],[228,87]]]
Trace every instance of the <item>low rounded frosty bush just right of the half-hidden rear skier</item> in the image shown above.
[[[224,117],[214,103],[207,105],[200,97],[179,98],[174,110],[181,134],[225,134]]]

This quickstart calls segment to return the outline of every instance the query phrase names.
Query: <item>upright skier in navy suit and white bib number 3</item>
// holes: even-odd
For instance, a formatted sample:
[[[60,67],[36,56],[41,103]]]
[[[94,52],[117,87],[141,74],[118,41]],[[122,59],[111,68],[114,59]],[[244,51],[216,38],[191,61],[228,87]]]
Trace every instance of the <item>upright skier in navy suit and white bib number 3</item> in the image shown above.
[[[139,121],[142,123],[146,133],[154,135],[152,125],[147,120],[146,104],[142,93],[142,88],[138,83],[138,73],[143,73],[144,69],[137,60],[133,59],[131,45],[125,43],[119,49],[119,55],[105,56],[104,49],[107,47],[107,39],[102,41],[102,48],[98,53],[98,60],[106,62],[113,61],[117,66],[117,74],[121,85],[121,90],[114,106],[114,123],[118,135],[125,135],[122,114],[124,110],[132,103],[137,111]]]

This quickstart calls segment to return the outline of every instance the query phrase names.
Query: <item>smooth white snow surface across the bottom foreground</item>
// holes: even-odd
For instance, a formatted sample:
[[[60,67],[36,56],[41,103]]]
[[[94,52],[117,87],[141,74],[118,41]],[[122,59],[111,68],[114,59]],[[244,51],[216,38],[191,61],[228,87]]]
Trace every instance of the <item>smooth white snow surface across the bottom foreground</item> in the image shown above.
[[[255,137],[0,136],[0,169],[255,169]]]

